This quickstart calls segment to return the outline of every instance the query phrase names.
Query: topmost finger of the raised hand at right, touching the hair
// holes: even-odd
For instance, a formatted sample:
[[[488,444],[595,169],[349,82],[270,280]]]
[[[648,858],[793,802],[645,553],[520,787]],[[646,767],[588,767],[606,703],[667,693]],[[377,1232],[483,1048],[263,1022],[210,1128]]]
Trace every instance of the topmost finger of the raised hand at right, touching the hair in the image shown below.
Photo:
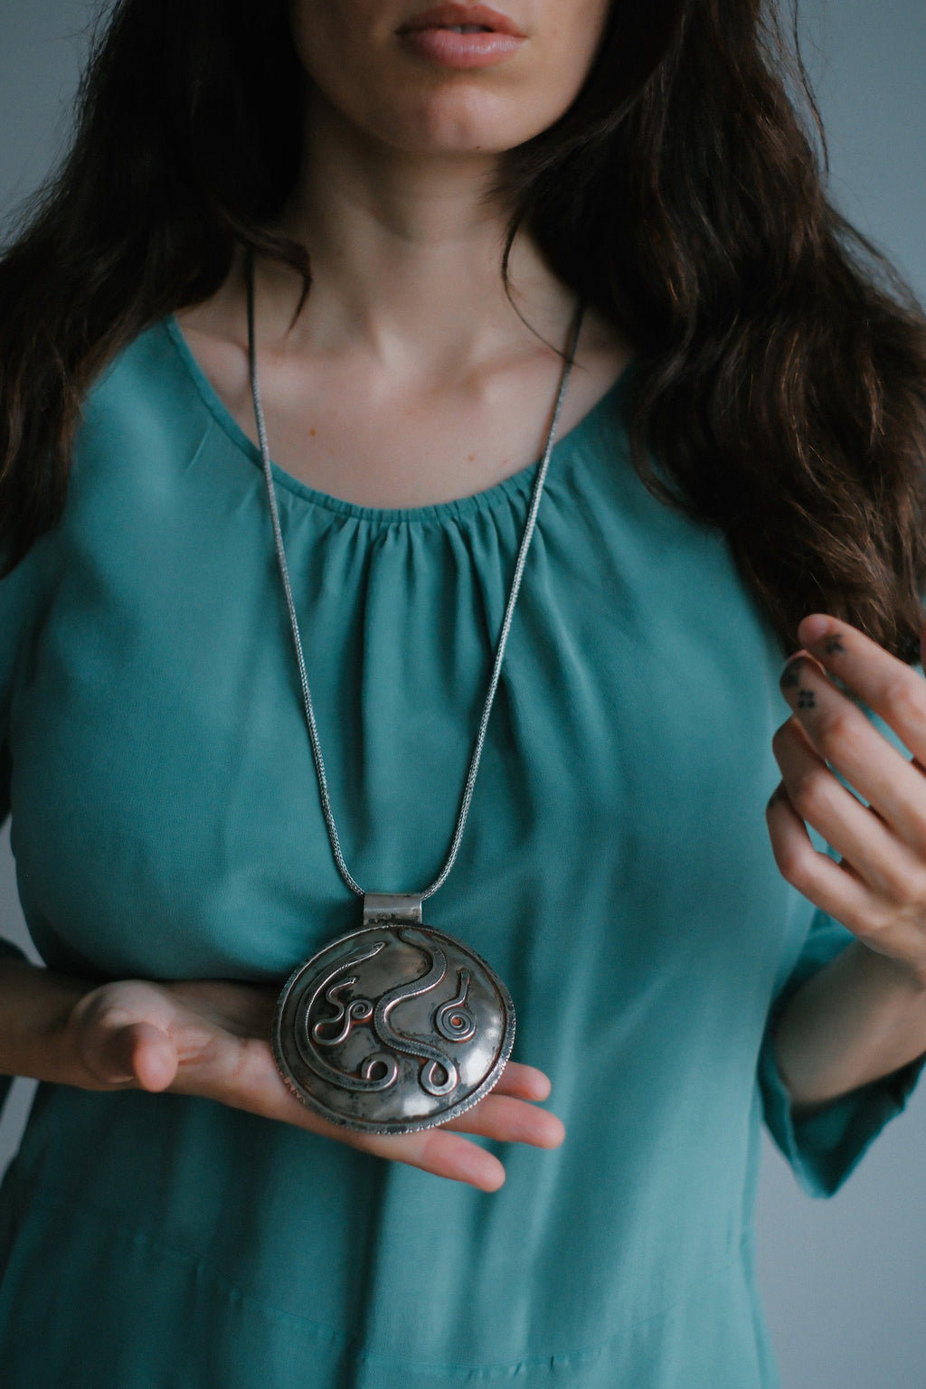
[[[857,628],[815,613],[804,618],[801,642],[820,665],[893,728],[916,761],[926,764],[926,681]]]

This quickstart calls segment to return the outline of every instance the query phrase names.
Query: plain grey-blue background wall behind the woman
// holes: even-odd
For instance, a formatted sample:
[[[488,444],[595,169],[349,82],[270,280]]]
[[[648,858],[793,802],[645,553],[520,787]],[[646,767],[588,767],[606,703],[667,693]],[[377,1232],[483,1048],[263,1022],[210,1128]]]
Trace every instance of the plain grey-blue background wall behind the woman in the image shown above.
[[[0,217],[68,133],[86,0],[0,0]],[[827,128],[833,192],[926,297],[926,0],[811,0],[805,57]],[[25,939],[0,836],[0,922]],[[31,1086],[0,1124],[0,1168]],[[843,1192],[809,1201],[766,1145],[759,1274],[784,1389],[926,1386],[926,1088]],[[630,1389],[630,1386],[628,1386]]]

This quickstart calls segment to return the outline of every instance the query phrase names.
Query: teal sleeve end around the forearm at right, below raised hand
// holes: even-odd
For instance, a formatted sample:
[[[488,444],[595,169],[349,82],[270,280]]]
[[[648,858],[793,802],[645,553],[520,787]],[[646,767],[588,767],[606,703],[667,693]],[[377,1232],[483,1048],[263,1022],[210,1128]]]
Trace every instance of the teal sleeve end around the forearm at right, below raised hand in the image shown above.
[[[775,1025],[800,986],[850,945],[852,936],[818,911],[801,956],[775,1001],[759,1053],[759,1089],[765,1122],[811,1196],[832,1196],[857,1167],[880,1131],[900,1114],[916,1083],[923,1058],[901,1067],[850,1095],[795,1118],[775,1060]]]

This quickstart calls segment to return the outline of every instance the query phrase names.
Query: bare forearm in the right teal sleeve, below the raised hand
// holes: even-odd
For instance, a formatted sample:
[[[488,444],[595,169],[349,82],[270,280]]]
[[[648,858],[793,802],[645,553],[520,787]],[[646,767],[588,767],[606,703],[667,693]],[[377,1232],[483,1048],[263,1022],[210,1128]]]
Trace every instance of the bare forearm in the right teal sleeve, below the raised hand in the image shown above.
[[[795,1108],[847,1095],[925,1051],[926,985],[859,943],[798,989],[775,1032]]]

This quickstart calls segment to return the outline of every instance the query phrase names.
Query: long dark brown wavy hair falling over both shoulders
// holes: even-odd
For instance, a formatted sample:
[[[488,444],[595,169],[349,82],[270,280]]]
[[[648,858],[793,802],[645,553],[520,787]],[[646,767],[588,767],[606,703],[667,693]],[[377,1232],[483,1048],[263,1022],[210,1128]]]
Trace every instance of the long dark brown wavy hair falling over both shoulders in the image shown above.
[[[633,343],[647,486],[721,526],[782,642],[825,610],[904,658],[926,578],[926,321],[830,206],[773,0],[612,0],[593,71],[508,156],[512,235]],[[286,0],[117,0],[74,146],[0,261],[0,546],[65,504],[82,399],[273,232],[305,76]]]

